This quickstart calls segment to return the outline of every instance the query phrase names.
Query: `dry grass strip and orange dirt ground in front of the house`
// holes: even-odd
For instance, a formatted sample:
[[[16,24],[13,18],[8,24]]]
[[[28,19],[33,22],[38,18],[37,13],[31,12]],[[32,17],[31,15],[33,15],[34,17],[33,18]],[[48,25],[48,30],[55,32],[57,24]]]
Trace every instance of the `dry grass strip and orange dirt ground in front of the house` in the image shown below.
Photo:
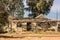
[[[0,40],[60,40],[59,32],[17,32],[0,34]]]

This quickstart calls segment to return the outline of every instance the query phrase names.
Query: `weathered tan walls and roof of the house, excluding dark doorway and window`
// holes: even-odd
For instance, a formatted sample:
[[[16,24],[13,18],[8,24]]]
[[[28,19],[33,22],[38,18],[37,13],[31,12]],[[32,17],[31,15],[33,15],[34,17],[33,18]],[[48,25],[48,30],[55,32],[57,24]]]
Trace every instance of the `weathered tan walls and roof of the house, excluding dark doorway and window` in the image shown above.
[[[9,18],[10,17],[10,18]],[[43,17],[42,16],[37,16],[36,18],[24,18],[24,19],[19,19],[19,20],[14,20],[14,17],[11,17],[9,16],[8,19],[9,19],[9,25],[10,27],[12,27],[12,29],[14,28],[16,31],[18,30],[27,30],[27,23],[30,22],[31,24],[31,30],[39,30],[40,28],[42,30],[48,30],[51,28],[54,29],[55,31],[57,30],[56,26],[57,26],[57,22],[60,22],[60,21],[57,21],[57,20],[51,20],[51,19],[48,19],[46,17]],[[17,27],[17,23],[20,22],[22,24],[22,27],[19,29]],[[38,26],[38,23],[40,23],[40,26]],[[49,23],[49,24],[48,24]],[[12,25],[12,26],[11,26]],[[54,26],[54,28],[53,28]],[[50,27],[50,28],[49,28]]]

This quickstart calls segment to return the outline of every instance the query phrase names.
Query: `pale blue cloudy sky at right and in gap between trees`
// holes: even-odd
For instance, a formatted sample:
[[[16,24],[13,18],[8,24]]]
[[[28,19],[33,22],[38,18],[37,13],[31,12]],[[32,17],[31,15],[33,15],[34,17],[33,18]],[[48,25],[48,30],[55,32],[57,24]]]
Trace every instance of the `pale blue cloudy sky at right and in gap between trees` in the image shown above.
[[[26,5],[26,0],[24,0],[24,5]],[[47,18],[49,19],[57,19],[57,14],[58,13],[58,19],[60,20],[60,0],[54,0],[53,6],[51,7],[50,13],[47,15]],[[24,17],[27,17],[28,11],[25,11]]]

